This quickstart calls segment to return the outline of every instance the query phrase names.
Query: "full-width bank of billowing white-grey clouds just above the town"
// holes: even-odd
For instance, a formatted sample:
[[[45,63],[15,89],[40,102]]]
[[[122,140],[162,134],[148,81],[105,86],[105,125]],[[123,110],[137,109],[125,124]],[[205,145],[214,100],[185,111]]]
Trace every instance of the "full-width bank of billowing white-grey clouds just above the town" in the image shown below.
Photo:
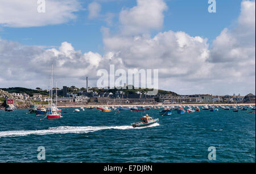
[[[123,9],[119,32],[101,29],[104,56],[81,53],[67,42],[57,49],[43,49],[0,40],[0,69],[6,72],[0,82],[44,87],[53,63],[63,85],[84,83],[89,75],[95,86],[96,71],[114,64],[126,70],[159,69],[159,88],[179,94],[255,92],[255,1],[242,1],[237,27],[223,29],[212,45],[207,38],[182,31],[151,36],[151,29],[162,27],[166,9],[162,0],[138,0],[137,6]],[[19,80],[15,83],[12,79]]]

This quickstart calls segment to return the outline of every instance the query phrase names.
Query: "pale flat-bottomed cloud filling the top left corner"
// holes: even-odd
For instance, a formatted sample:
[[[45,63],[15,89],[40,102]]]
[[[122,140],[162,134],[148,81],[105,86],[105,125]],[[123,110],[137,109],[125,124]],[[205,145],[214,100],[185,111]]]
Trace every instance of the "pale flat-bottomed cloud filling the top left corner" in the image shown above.
[[[39,13],[37,1],[9,0],[0,3],[0,26],[39,27],[67,23],[76,19],[79,11],[77,0],[47,0],[46,12]]]

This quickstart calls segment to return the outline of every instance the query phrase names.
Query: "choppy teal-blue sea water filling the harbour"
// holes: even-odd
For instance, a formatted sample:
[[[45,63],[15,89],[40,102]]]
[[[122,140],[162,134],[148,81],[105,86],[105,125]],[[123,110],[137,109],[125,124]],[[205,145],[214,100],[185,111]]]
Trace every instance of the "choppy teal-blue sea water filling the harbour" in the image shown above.
[[[247,111],[159,116],[159,123],[132,128],[144,112],[97,109],[73,112],[43,120],[28,109],[0,110],[0,162],[255,162],[255,114]],[[65,113],[64,113],[65,112]],[[38,160],[38,147],[46,160]],[[216,148],[209,160],[208,148]]]

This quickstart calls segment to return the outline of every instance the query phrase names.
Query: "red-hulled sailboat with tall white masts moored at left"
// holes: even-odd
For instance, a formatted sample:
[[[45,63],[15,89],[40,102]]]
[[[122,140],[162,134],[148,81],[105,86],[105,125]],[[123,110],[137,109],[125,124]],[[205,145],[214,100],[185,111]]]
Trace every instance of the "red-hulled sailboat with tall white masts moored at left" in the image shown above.
[[[61,118],[60,110],[57,109],[57,83],[56,83],[56,105],[53,104],[52,100],[52,83],[53,83],[53,65],[51,67],[51,90],[49,91],[49,103],[48,103],[48,111],[47,111],[47,118],[48,119],[56,119]]]

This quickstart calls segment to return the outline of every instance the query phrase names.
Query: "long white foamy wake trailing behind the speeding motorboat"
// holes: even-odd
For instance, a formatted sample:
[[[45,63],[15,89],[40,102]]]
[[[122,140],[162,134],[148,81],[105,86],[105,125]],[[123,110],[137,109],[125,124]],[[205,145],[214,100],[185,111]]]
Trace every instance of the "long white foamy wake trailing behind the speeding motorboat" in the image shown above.
[[[158,126],[159,124],[152,124],[147,127]],[[105,129],[142,129],[133,128],[132,126],[57,126],[53,128],[43,129],[43,130],[15,130],[15,131],[0,131],[1,137],[19,137],[26,135],[48,135],[48,134],[68,134],[68,133],[89,133],[93,131],[105,130]]]

